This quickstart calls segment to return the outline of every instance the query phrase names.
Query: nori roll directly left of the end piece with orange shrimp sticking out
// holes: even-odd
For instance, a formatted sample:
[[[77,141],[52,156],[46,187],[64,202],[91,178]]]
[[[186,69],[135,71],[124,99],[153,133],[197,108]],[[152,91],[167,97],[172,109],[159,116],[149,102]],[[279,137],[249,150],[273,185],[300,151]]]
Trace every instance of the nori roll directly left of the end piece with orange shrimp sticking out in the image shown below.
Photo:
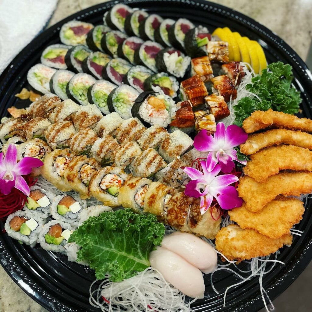
[[[123,119],[132,117],[131,109],[139,92],[129,85],[121,85],[110,92],[107,99],[110,112],[116,111]]]

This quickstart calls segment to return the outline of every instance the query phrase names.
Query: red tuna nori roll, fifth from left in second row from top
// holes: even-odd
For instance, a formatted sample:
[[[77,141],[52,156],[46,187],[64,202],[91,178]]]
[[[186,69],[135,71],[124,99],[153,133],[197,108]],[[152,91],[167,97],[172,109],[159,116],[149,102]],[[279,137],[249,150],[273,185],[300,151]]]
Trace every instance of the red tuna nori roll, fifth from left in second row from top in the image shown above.
[[[155,58],[157,54],[163,49],[163,46],[157,42],[145,41],[138,50],[134,53],[134,62],[141,64],[155,73],[157,72]]]

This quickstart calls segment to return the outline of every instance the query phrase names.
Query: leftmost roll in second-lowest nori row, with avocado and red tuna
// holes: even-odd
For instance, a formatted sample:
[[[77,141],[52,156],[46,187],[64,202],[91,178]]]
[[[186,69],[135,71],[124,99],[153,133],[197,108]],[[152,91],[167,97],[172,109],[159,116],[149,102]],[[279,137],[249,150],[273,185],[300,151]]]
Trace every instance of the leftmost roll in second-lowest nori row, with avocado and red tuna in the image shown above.
[[[57,69],[66,69],[65,55],[71,46],[64,44],[52,44],[47,46],[42,54],[40,61],[43,65],[50,66]]]

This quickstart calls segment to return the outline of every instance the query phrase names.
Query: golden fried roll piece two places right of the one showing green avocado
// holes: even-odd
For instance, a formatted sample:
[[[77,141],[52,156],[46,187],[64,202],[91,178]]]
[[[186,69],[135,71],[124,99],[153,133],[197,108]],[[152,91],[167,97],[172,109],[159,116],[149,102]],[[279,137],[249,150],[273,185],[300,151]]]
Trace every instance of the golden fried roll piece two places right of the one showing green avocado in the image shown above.
[[[164,220],[167,214],[167,206],[174,193],[174,188],[158,181],[152,182],[145,194],[143,212],[150,212]]]

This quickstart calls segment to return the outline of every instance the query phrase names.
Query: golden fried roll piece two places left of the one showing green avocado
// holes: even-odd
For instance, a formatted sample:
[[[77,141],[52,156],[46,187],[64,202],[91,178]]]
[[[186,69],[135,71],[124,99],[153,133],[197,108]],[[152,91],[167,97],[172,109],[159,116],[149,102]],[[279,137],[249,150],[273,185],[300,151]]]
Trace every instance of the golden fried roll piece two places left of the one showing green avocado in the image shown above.
[[[46,178],[60,191],[70,191],[72,188],[64,179],[64,173],[73,156],[69,149],[56,149],[47,154],[44,165],[41,167],[42,177]]]

